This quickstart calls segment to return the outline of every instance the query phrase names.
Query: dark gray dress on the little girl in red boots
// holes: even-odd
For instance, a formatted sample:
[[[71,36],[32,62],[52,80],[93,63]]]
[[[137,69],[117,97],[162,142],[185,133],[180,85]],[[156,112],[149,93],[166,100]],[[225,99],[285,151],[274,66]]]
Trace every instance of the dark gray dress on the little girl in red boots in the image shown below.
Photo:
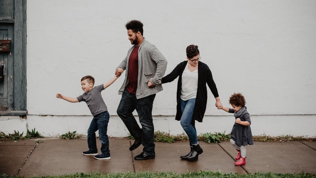
[[[229,108],[228,112],[234,113],[234,110]],[[245,111],[238,114],[240,115],[236,115],[236,114],[234,115],[235,119],[240,118],[241,121],[248,121],[251,124],[250,116],[249,116],[246,106],[245,106]],[[230,136],[231,136],[230,138],[233,139],[238,146],[253,145],[250,125],[244,126],[244,125],[235,123],[232,131],[230,132]]]

